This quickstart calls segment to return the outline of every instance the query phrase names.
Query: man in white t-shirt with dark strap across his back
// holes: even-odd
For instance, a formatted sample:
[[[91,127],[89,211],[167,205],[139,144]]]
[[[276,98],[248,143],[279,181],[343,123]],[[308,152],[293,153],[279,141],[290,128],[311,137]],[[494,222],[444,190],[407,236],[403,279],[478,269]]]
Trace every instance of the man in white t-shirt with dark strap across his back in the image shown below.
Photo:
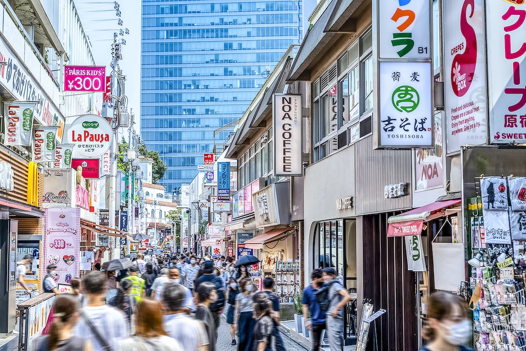
[[[78,338],[91,340],[94,350],[102,350],[103,344],[117,350],[120,341],[128,338],[130,333],[124,314],[106,305],[108,279],[102,272],[89,272],[82,279],[82,285],[88,304],[81,309],[73,334]]]

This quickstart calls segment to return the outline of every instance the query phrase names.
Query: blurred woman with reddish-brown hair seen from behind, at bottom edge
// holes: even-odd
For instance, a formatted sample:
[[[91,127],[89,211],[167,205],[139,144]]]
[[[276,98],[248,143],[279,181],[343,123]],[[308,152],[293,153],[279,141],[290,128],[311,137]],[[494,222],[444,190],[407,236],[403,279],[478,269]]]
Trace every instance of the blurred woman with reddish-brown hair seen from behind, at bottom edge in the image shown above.
[[[176,339],[165,331],[161,303],[143,298],[137,304],[137,326],[135,335],[119,343],[120,351],[183,351]]]

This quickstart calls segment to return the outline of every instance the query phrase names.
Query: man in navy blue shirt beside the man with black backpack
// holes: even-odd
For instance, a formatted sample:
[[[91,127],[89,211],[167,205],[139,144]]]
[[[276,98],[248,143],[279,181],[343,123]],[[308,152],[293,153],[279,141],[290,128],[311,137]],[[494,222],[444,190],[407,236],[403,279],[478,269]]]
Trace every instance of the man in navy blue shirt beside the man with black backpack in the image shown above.
[[[321,288],[324,282],[323,271],[320,268],[315,268],[310,274],[312,283],[303,290],[301,297],[301,304],[303,305],[303,316],[305,318],[305,326],[312,332],[312,351],[318,351],[320,348],[320,338],[325,325],[325,312],[320,308],[320,304],[316,300],[314,293]],[[308,315],[310,311],[311,320],[308,322]]]

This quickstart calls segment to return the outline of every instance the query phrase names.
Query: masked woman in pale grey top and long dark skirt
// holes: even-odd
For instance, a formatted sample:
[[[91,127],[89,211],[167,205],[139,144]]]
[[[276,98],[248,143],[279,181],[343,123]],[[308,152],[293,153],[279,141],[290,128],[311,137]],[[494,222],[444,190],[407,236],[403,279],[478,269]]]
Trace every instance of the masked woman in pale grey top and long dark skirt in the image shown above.
[[[241,294],[236,296],[236,310],[234,313],[234,330],[239,343],[238,351],[250,351],[252,347],[252,330],[254,329],[254,305],[252,292],[255,290],[252,279],[243,279],[239,284]]]

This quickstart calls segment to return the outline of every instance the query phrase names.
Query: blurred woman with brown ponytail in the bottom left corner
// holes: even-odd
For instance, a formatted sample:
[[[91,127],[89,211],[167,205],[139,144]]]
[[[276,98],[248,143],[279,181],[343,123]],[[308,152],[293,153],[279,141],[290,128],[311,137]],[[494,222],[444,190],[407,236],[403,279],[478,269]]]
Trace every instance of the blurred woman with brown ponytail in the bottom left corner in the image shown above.
[[[35,338],[29,351],[91,351],[89,340],[73,335],[73,327],[80,315],[78,298],[72,294],[56,295],[53,311],[49,333]]]

